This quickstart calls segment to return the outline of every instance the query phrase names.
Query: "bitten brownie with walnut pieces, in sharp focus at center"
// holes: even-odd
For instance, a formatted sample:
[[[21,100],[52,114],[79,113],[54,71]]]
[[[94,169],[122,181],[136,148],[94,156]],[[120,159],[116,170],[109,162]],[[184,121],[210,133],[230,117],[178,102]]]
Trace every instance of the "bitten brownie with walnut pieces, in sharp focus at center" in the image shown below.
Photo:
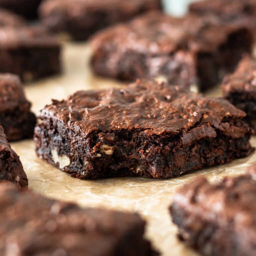
[[[248,156],[244,116],[224,99],[138,80],[53,100],[35,128],[36,153],[81,179],[176,177]]]

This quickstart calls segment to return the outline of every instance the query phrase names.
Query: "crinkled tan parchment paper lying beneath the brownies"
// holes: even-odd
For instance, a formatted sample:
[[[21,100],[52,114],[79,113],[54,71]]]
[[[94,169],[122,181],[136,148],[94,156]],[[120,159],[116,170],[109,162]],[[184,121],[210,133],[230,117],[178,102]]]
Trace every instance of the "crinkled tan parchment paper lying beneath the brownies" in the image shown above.
[[[63,47],[63,74],[25,86],[36,114],[51,103],[52,98],[61,100],[77,90],[122,85],[95,77],[91,73],[91,53],[87,44],[64,43]],[[221,95],[219,89],[208,94]],[[251,143],[256,146],[256,138],[252,138]],[[33,140],[12,143],[11,146],[20,155],[30,189],[52,198],[76,202],[81,206],[139,212],[148,222],[146,237],[163,256],[197,255],[176,238],[177,229],[168,212],[176,189],[201,175],[216,181],[223,176],[244,173],[247,166],[256,162],[256,154],[252,154],[230,164],[202,169],[169,180],[136,177],[86,181],[71,178],[37,158]]]

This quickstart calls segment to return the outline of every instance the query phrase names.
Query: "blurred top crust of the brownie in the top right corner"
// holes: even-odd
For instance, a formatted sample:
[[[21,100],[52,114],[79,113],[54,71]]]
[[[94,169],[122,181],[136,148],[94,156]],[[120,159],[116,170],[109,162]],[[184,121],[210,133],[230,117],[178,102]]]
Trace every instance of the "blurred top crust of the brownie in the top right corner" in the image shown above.
[[[191,3],[190,11],[208,13],[214,12],[223,18],[236,18],[243,14],[255,14],[254,0],[204,0]]]

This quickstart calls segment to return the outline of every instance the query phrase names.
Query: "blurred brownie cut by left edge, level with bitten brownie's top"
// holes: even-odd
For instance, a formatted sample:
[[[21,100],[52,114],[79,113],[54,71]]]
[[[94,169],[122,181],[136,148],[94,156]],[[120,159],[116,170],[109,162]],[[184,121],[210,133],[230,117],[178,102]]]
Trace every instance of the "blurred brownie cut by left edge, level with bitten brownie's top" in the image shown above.
[[[36,117],[30,111],[20,79],[12,74],[0,74],[0,124],[9,141],[32,138]]]

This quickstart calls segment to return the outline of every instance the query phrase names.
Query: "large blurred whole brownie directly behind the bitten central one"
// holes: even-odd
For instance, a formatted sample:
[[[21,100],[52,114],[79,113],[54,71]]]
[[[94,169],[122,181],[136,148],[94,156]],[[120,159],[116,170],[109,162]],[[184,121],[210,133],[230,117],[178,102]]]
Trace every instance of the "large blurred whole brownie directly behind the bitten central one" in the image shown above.
[[[251,52],[253,35],[215,16],[174,18],[154,12],[99,32],[91,40],[96,74],[120,80],[164,76],[170,83],[201,90],[233,70]]]

